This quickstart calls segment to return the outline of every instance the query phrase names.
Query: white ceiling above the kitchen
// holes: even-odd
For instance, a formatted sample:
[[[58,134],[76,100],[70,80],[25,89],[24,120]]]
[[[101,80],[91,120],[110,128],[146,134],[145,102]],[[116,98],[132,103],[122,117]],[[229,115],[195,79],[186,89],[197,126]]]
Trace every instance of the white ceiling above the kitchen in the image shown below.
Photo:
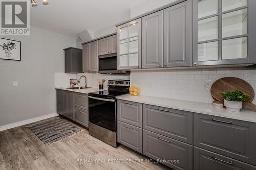
[[[49,0],[30,11],[31,25],[51,32],[77,37],[84,30],[97,31],[126,19],[130,8],[147,0]]]

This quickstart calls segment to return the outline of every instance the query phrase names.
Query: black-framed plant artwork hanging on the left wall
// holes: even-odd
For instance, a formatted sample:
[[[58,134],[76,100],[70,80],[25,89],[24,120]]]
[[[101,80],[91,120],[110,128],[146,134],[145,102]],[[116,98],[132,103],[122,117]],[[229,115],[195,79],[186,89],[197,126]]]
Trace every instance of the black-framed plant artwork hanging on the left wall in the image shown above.
[[[0,38],[0,59],[20,61],[20,41]]]

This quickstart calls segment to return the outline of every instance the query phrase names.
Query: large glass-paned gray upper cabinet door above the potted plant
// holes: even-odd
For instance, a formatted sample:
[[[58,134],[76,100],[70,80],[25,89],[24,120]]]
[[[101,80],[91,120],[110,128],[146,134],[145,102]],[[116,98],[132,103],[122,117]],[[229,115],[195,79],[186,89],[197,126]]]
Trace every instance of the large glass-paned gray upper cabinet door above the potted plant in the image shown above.
[[[256,62],[256,1],[193,1],[193,66]]]

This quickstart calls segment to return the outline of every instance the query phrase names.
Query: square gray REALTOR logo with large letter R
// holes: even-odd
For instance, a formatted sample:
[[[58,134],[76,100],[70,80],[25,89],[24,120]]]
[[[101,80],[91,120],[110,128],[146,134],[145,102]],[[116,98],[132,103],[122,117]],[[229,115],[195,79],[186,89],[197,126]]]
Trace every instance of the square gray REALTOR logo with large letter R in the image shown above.
[[[28,0],[0,1],[0,35],[30,35]]]

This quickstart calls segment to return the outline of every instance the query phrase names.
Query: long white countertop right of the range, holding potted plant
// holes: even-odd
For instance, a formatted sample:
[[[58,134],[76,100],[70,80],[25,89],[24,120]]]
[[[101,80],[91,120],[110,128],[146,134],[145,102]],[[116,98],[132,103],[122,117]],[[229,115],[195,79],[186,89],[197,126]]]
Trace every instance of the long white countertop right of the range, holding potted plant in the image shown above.
[[[125,94],[117,96],[117,99],[256,123],[256,112],[250,108],[243,108],[241,112],[230,112],[224,108],[214,108],[211,103],[156,98],[145,95],[132,96]]]

